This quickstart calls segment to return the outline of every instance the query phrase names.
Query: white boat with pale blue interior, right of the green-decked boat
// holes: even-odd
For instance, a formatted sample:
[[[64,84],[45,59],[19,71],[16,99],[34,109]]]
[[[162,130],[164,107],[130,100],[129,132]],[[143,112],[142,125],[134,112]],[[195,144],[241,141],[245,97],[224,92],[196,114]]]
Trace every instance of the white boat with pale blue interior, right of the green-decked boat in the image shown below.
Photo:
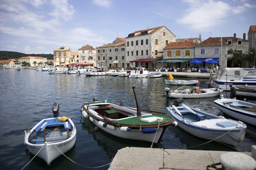
[[[179,127],[199,138],[233,146],[244,140],[246,125],[241,121],[217,117],[185,104],[169,106],[167,110]]]

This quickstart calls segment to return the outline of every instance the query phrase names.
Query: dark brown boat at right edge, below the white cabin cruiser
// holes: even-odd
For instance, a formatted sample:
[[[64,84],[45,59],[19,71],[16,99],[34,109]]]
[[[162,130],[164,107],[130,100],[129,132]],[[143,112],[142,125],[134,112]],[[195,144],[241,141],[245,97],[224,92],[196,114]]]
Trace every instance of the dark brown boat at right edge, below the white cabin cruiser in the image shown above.
[[[256,98],[256,87],[253,86],[235,86],[237,96]]]

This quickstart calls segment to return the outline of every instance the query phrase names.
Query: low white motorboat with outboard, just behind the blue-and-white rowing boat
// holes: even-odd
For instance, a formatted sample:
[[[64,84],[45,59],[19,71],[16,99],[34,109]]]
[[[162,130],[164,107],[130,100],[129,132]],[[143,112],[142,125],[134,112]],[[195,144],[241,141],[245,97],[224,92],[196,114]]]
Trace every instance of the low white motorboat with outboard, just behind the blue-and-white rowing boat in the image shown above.
[[[197,93],[195,88],[186,88],[185,90],[170,90],[170,88],[164,88],[164,91],[168,97],[172,98],[206,98],[220,96],[223,92],[220,88],[201,88],[202,93]]]

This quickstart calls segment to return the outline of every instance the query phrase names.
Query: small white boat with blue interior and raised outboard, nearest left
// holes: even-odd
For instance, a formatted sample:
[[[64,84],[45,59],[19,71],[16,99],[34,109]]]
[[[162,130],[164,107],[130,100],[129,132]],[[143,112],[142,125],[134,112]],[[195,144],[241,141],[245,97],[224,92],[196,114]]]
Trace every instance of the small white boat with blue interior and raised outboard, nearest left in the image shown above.
[[[67,117],[58,117],[58,103],[52,108],[53,118],[43,119],[32,130],[25,130],[24,143],[30,153],[39,156],[47,165],[69,151],[76,143],[76,126]]]

